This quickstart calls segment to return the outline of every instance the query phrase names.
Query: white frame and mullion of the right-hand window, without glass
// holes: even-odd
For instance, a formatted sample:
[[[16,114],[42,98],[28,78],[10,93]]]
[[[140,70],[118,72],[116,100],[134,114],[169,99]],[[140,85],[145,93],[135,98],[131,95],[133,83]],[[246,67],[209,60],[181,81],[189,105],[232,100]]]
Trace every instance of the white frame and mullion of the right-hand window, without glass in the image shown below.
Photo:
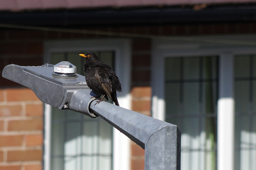
[[[256,35],[168,37],[152,41],[152,117],[165,120],[164,59],[218,56],[217,168],[234,170],[233,57],[256,53]],[[232,64],[230,64],[232,63]],[[229,88],[227,88],[229,84]]]

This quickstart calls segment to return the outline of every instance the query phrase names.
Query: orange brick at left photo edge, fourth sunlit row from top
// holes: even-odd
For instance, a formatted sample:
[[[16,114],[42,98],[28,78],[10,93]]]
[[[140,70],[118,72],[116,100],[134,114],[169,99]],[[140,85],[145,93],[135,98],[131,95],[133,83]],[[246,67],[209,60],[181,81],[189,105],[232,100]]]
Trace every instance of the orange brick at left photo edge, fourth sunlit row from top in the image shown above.
[[[0,136],[0,147],[21,146],[22,139],[22,135]]]

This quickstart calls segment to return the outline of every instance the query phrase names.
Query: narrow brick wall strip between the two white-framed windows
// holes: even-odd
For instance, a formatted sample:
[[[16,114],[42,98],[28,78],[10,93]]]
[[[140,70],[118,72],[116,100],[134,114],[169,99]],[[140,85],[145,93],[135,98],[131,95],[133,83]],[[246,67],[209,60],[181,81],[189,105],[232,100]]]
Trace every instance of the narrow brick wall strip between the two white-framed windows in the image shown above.
[[[151,39],[134,39],[132,43],[132,110],[148,116],[151,116],[150,58]],[[131,169],[144,170],[144,149],[134,142],[131,142],[131,149]]]

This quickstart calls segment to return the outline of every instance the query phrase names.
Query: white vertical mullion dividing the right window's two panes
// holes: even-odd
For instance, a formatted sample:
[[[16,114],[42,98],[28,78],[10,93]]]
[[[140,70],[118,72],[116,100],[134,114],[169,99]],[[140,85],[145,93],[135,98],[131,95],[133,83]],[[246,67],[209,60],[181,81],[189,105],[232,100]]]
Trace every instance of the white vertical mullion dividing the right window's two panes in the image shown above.
[[[217,113],[218,170],[234,170],[233,55],[221,54]]]

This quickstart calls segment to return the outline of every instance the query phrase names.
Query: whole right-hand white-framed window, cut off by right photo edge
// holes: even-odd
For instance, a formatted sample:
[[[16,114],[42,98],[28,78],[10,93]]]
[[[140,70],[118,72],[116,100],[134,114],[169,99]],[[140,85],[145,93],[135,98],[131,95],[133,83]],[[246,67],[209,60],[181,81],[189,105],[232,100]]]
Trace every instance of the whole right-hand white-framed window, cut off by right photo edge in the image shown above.
[[[152,115],[181,130],[181,169],[253,169],[256,35],[174,39],[152,43]]]

